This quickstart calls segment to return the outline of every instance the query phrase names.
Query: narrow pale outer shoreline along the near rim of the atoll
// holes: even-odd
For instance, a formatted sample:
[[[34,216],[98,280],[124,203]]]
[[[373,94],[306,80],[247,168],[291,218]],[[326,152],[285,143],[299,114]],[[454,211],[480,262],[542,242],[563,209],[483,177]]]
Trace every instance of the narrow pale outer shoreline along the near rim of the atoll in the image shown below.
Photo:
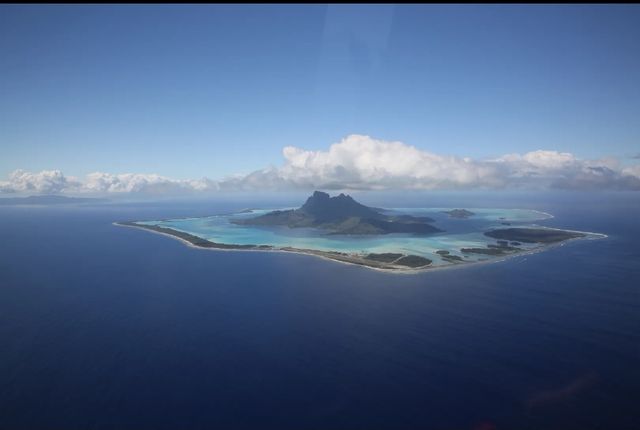
[[[585,234],[585,236],[584,237],[576,237],[576,238],[567,239],[567,240],[564,240],[564,241],[561,241],[561,242],[558,242],[558,243],[545,244],[545,245],[541,245],[541,246],[533,248],[533,249],[513,252],[513,253],[510,253],[510,254],[501,255],[499,257],[490,258],[490,259],[486,259],[486,260],[452,262],[452,263],[449,263],[449,264],[438,265],[438,266],[433,266],[431,264],[432,261],[428,260],[429,264],[426,264],[426,265],[423,265],[423,266],[418,266],[418,267],[409,267],[409,266],[404,266],[404,265],[393,264],[393,262],[385,263],[385,262],[381,262],[381,261],[368,259],[368,258],[365,258],[365,256],[362,256],[362,255],[346,254],[346,253],[340,253],[340,252],[337,252],[337,251],[319,251],[319,250],[314,250],[314,249],[295,248],[295,247],[278,248],[278,247],[274,247],[274,246],[271,246],[271,245],[229,245],[229,244],[221,244],[221,243],[212,242],[210,240],[201,238],[199,236],[195,236],[195,235],[192,235],[192,234],[189,234],[189,233],[185,233],[185,232],[181,232],[181,231],[178,231],[178,230],[174,230],[174,229],[168,228],[168,227],[158,227],[158,226],[152,226],[152,225],[137,224],[135,222],[113,222],[112,224],[116,225],[116,226],[120,226],[120,227],[139,228],[139,229],[150,231],[152,233],[160,234],[160,235],[163,235],[163,236],[169,236],[169,237],[177,239],[180,242],[182,242],[183,244],[185,244],[185,245],[187,245],[189,247],[195,248],[195,249],[212,250],[212,251],[244,251],[244,252],[253,251],[253,252],[294,253],[294,254],[301,254],[301,255],[309,255],[309,256],[319,257],[319,258],[322,258],[322,259],[325,259],[325,260],[328,260],[328,261],[333,261],[333,262],[336,262],[336,263],[357,265],[357,266],[365,267],[367,269],[377,270],[377,271],[384,272],[384,273],[395,273],[395,274],[405,274],[405,275],[418,274],[418,273],[423,273],[423,272],[427,272],[427,271],[434,271],[434,270],[443,270],[443,269],[452,269],[452,268],[463,268],[463,267],[477,266],[477,265],[480,265],[480,264],[499,263],[499,262],[503,262],[503,261],[506,261],[506,260],[514,258],[514,257],[532,255],[532,254],[536,254],[538,252],[545,251],[547,249],[551,249],[553,247],[563,246],[565,243],[570,243],[570,242],[573,242],[573,241],[584,240],[584,239],[589,239],[589,240],[604,239],[604,238],[608,237],[607,235],[601,234],[601,233],[580,232],[580,231],[577,231],[577,230],[563,230],[563,229],[558,229],[558,228],[546,227],[546,228],[553,229],[553,230],[572,231],[572,232],[576,232],[576,233],[583,233],[583,234]],[[598,237],[589,237],[588,235],[595,235],[595,236],[598,236]],[[413,257],[413,256],[412,255],[404,255],[403,254],[403,257],[401,257],[401,258],[404,258],[404,257]],[[400,258],[398,258],[397,260],[399,260],[399,259]],[[397,261],[397,260],[394,260],[394,262]]]

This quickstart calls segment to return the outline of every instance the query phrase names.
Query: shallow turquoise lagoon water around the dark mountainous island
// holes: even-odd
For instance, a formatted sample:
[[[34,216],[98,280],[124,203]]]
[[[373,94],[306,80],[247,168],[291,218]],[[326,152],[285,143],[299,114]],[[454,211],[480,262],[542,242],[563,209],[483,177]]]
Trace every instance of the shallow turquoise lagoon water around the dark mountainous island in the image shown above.
[[[289,208],[285,208],[289,209]],[[446,250],[464,258],[467,262],[485,261],[504,257],[462,253],[461,248],[495,244],[496,240],[485,236],[485,231],[507,227],[540,227],[537,222],[552,218],[551,215],[528,209],[468,208],[475,215],[466,219],[450,218],[444,211],[451,208],[393,208],[390,214],[429,216],[442,233],[427,236],[410,234],[386,234],[377,236],[329,235],[313,228],[241,226],[232,219],[255,217],[273,209],[252,209],[239,213],[212,215],[199,218],[140,221],[138,224],[156,225],[192,234],[212,242],[230,245],[271,245],[276,248],[294,247],[319,251],[339,251],[354,254],[397,252],[420,255],[433,260],[432,266],[450,265],[436,251]],[[520,248],[532,251],[539,244],[521,244]]]

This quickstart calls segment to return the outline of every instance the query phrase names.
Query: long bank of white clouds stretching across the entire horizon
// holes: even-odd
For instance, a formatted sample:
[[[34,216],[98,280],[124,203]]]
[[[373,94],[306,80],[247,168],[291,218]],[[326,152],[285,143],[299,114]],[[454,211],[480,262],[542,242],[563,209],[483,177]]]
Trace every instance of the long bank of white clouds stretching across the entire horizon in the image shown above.
[[[280,167],[221,180],[178,180],[156,174],[95,172],[84,180],[59,170],[16,170],[0,181],[4,193],[181,194],[260,190],[439,190],[561,188],[640,190],[640,165],[583,160],[538,150],[474,160],[434,154],[397,141],[350,135],[327,150],[287,146]]]

